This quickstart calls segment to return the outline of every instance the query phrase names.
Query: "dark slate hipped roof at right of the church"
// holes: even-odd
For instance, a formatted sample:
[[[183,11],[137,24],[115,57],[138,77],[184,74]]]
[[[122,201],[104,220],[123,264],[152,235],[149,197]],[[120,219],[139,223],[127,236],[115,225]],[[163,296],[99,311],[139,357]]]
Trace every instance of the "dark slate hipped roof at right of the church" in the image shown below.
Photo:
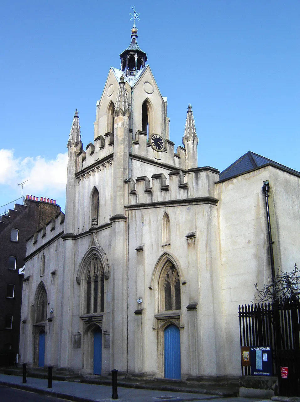
[[[240,174],[244,174],[251,170],[255,170],[257,168],[261,168],[262,166],[274,166],[280,170],[284,170],[285,172],[294,174],[296,176],[300,176],[300,172],[297,170],[293,170],[284,166],[278,162],[274,162],[274,160],[265,158],[264,156],[257,155],[254,152],[248,151],[245,155],[241,156],[238,160],[233,162],[228,168],[223,170],[219,174],[219,181],[227,180],[232,177],[237,177]]]

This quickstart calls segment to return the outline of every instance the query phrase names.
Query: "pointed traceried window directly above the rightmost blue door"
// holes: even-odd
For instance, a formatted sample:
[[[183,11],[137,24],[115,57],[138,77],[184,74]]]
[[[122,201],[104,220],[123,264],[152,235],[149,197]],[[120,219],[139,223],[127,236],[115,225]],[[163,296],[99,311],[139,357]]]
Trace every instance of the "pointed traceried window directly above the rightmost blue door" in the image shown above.
[[[177,269],[168,263],[160,275],[160,296],[162,310],[181,309],[180,279]]]

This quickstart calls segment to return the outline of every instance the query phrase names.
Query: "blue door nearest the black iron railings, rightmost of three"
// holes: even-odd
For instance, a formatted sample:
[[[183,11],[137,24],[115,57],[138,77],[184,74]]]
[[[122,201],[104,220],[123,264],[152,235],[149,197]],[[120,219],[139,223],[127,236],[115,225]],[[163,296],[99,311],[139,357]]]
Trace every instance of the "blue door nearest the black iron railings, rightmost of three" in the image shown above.
[[[164,330],[164,377],[181,379],[180,331],[175,325]]]

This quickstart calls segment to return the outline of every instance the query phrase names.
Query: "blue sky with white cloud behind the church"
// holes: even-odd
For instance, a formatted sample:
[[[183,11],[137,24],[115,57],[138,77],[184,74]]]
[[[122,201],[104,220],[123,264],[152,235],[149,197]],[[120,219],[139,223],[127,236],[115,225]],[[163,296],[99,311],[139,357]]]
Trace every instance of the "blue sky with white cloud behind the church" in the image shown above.
[[[299,0],[2,0],[0,205],[29,178],[23,194],[65,208],[74,111],[86,146],[109,67],[120,68],[130,44],[134,5],[175,149],[190,103],[199,166],[221,171],[251,150],[300,170]]]

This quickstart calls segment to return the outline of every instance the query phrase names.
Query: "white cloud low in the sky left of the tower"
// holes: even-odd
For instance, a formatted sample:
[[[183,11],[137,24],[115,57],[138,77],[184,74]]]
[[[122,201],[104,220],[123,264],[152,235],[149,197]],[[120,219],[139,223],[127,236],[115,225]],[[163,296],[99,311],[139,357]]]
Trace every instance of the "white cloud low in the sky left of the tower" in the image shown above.
[[[14,150],[0,150],[0,185],[20,191],[18,184],[24,184],[23,195],[58,198],[65,195],[68,154],[58,154],[55,159],[15,158]]]

